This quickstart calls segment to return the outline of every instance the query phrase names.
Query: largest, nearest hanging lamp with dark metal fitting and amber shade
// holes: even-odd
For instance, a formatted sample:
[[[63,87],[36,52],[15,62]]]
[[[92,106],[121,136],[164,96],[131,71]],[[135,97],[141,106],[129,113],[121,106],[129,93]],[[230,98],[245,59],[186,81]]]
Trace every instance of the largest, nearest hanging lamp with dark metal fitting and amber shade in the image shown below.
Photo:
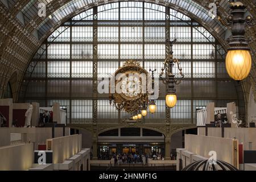
[[[226,55],[226,70],[234,80],[245,79],[251,69],[251,54],[248,41],[245,38],[245,22],[251,24],[251,16],[246,16],[246,7],[241,2],[230,3],[232,9],[228,16],[232,24],[232,36],[228,39],[230,48]]]

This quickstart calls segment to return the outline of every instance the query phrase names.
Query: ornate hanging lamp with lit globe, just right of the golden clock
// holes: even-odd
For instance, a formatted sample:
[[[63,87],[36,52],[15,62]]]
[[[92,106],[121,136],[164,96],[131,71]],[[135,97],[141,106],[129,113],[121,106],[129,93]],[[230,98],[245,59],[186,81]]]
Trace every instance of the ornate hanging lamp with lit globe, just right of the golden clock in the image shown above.
[[[166,93],[166,105],[171,108],[174,107],[177,102],[176,89],[174,84],[180,84],[181,82],[181,80],[177,81],[174,79],[175,76],[172,73],[172,68],[174,67],[174,63],[177,63],[177,68],[180,71],[179,73],[181,75],[181,79],[184,78],[179,61],[177,59],[174,59],[173,57],[174,52],[172,51],[172,46],[174,42],[176,42],[176,39],[174,39],[173,41],[170,41],[170,53],[168,54],[166,60],[164,61],[164,67],[162,68],[162,72],[160,73],[160,76],[159,76],[163,81],[163,83],[168,85],[167,93]],[[163,76],[164,70],[166,69],[167,69],[166,71],[167,78],[164,79],[162,76]]]

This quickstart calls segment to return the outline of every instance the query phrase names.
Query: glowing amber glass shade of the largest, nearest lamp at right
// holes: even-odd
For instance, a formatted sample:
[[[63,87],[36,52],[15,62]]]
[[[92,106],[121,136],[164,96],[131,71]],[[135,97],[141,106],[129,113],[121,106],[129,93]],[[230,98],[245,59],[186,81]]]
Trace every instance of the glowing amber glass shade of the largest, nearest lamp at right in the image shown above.
[[[251,69],[251,54],[248,50],[230,50],[226,55],[226,70],[234,80],[245,79]]]

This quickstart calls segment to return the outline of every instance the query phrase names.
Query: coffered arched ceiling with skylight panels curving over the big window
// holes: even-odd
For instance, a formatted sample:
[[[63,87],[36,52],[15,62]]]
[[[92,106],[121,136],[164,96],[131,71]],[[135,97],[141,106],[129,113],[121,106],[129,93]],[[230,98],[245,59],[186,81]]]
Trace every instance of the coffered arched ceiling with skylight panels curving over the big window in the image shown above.
[[[38,16],[38,3],[44,2],[47,5],[47,16]],[[75,16],[82,11],[94,6],[102,5],[117,0],[1,0],[0,1],[0,96],[3,96],[4,89],[13,72],[17,72],[18,82],[22,82],[24,72],[30,63],[32,56],[51,35],[51,33],[64,23],[67,19]],[[145,2],[157,3],[163,6],[169,6],[172,9],[197,20],[213,36],[227,47],[225,39],[227,28],[222,26],[218,20],[211,19],[208,16],[210,0],[146,0]],[[256,18],[255,0],[243,0],[249,13]],[[228,15],[229,2],[220,1],[218,14],[221,16]],[[26,15],[25,15],[26,14]],[[25,16],[24,16],[25,15]],[[51,15],[49,17],[49,15]],[[43,30],[43,31],[42,31]],[[251,53],[253,55],[254,65],[251,70],[251,81],[256,82],[255,68],[255,49],[256,49],[256,26],[247,28],[247,36],[252,40],[250,42]],[[38,37],[39,35],[39,37]],[[42,36],[41,36],[42,35]],[[19,87],[17,87],[18,89]],[[17,92],[15,90],[14,92]],[[16,98],[14,98],[15,100]]]

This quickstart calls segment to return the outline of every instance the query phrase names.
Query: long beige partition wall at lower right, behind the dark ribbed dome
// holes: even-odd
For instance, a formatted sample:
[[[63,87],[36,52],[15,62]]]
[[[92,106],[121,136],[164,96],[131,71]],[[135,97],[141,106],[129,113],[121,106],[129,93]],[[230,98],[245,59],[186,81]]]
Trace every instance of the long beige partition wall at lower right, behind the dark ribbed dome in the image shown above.
[[[238,140],[200,135],[185,135],[185,149],[209,158],[209,152],[215,151],[217,160],[224,160],[238,168]]]

